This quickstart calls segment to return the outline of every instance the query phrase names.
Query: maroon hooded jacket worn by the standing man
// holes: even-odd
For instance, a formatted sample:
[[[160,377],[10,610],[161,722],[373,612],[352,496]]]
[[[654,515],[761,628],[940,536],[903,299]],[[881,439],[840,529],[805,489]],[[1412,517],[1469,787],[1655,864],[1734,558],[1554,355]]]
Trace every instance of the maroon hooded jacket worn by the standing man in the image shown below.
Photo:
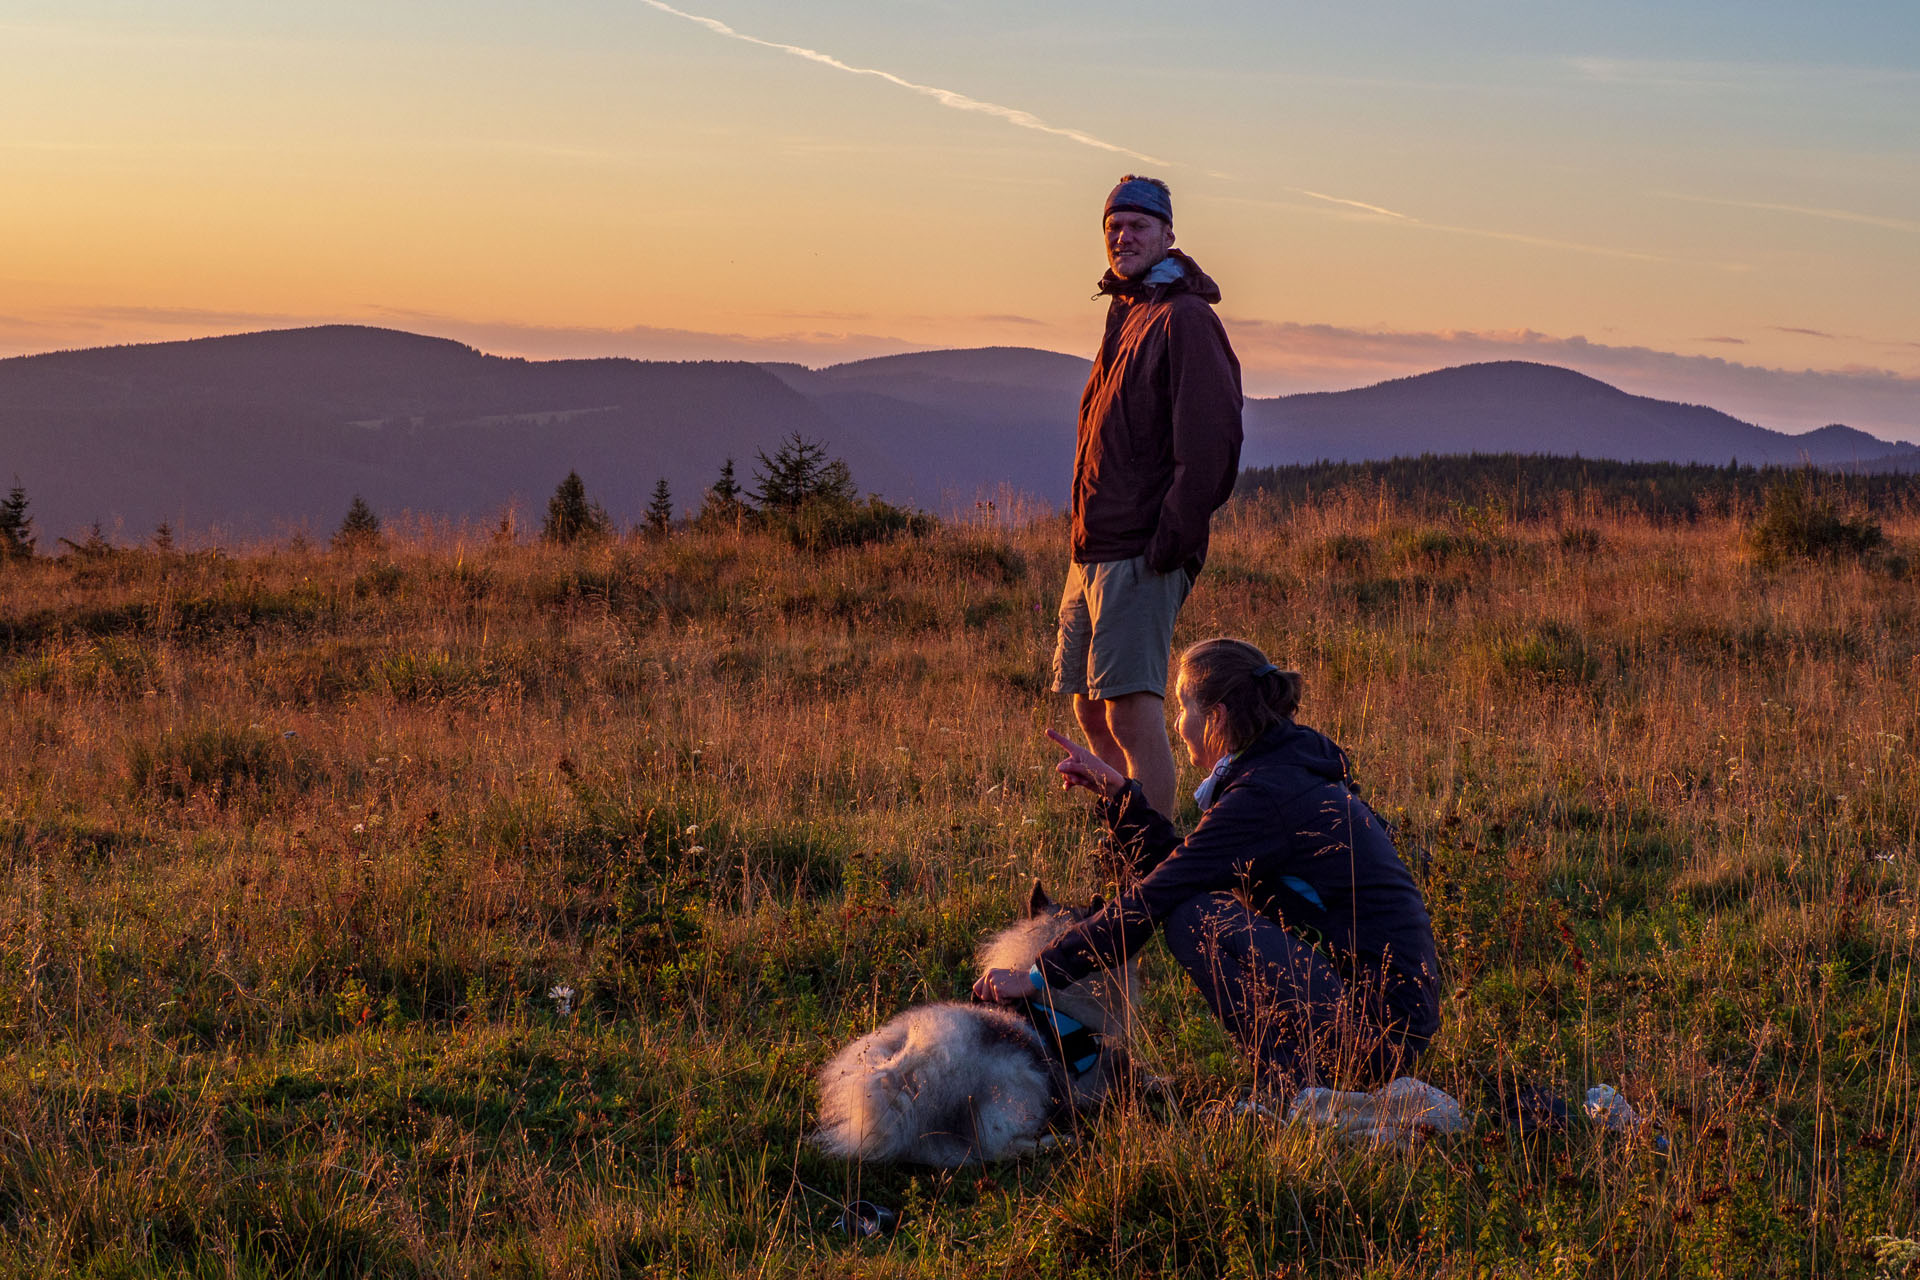
[[[1081,393],[1073,558],[1146,555],[1158,574],[1200,572],[1208,518],[1240,466],[1240,361],[1213,315],[1219,286],[1187,273],[1142,286],[1112,271],[1106,338]]]

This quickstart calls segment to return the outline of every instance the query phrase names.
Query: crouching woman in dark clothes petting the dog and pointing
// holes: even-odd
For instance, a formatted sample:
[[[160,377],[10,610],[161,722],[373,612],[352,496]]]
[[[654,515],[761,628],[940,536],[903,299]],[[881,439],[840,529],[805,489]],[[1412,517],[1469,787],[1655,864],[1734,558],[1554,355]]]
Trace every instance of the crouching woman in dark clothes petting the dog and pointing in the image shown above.
[[[1181,654],[1179,735],[1217,760],[1181,841],[1137,781],[1085,747],[1056,766],[1100,796],[1123,892],[1041,954],[995,969],[983,1000],[1069,986],[1137,956],[1156,927],[1213,1013],[1254,1057],[1256,1086],[1369,1088],[1405,1073],[1438,1027],[1432,925],[1386,823],[1356,794],[1346,752],[1294,723],[1300,676],[1252,645]]]

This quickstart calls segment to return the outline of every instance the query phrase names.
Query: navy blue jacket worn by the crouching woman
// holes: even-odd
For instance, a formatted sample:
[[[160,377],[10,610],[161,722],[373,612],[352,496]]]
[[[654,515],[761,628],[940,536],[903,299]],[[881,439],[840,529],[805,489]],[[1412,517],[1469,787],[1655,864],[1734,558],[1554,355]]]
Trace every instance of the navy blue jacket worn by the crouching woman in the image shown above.
[[[1382,981],[1400,1032],[1440,1023],[1440,961],[1427,904],[1354,791],[1346,752],[1292,722],[1240,750],[1183,842],[1135,781],[1102,812],[1135,881],[1039,958],[1050,986],[1139,954],[1183,902],[1240,890],[1256,912],[1319,946],[1348,981]]]

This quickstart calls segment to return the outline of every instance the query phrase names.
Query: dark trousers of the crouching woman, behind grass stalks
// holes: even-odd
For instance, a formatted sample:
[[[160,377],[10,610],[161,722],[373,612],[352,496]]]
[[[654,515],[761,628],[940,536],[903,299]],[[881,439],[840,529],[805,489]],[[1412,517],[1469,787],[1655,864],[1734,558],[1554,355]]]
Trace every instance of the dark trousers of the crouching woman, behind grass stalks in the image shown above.
[[[1277,1094],[1373,1088],[1411,1067],[1423,1040],[1384,998],[1384,975],[1342,971],[1236,894],[1200,894],[1164,923],[1167,950]]]

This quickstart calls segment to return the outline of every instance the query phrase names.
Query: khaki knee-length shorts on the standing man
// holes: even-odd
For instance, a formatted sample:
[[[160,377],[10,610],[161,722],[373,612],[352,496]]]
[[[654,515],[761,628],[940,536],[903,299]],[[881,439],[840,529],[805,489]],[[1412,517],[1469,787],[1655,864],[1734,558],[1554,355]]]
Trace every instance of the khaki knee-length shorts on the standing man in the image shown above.
[[[1185,568],[1156,574],[1146,557],[1069,564],[1054,641],[1054,693],[1167,697],[1173,620],[1188,591]]]

